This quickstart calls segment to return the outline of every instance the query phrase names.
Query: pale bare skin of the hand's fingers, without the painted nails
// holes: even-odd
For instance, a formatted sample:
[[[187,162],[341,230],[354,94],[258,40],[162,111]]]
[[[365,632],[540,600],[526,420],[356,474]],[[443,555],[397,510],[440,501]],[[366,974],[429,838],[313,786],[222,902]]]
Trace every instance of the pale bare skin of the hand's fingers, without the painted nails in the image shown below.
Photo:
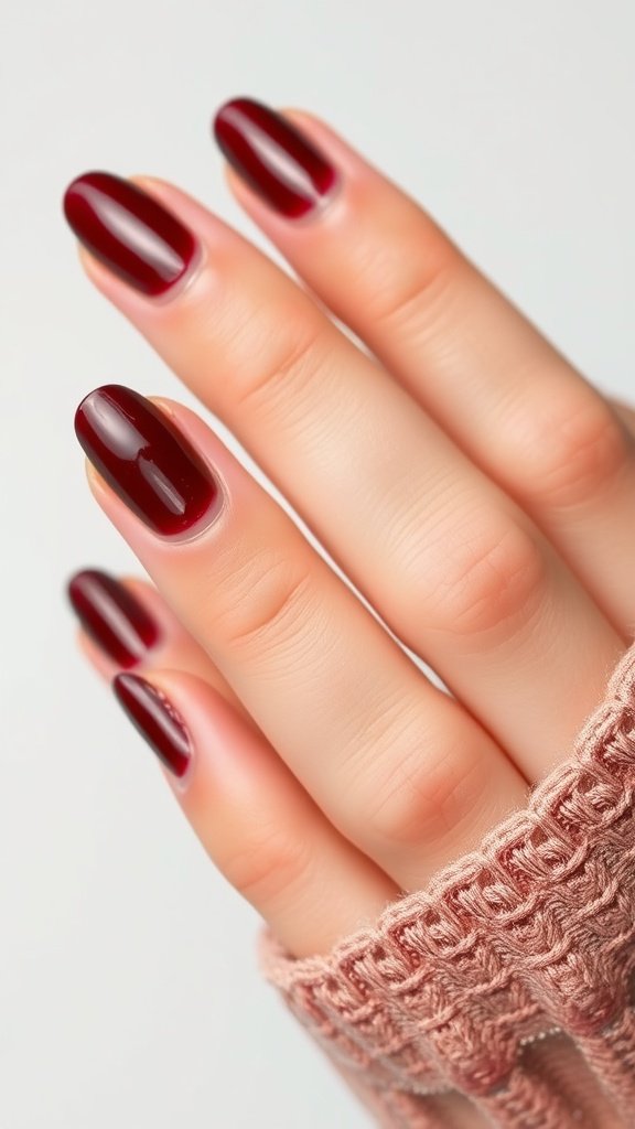
[[[162,771],[212,863],[306,956],[571,754],[633,639],[635,412],[330,126],[284,113],[340,169],[330,202],[293,221],[227,181],[298,282],[148,177],[202,247],[184,285],[155,300],[80,254],[392,632],[179,403],[156,401],[225,493],[197,536],[153,533],[88,464],[155,585],[124,581],[163,632],[140,671],[193,743],[183,780]]]

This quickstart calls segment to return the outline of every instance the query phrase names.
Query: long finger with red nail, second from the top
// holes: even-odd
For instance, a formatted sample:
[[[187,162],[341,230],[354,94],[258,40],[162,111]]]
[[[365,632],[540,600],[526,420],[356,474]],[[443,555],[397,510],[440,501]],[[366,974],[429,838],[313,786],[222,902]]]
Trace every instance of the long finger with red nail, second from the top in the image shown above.
[[[288,275],[183,193],[142,183],[150,196],[103,174],[71,187],[76,230],[137,289],[86,256],[90,277],[536,779],[624,641],[529,516]]]

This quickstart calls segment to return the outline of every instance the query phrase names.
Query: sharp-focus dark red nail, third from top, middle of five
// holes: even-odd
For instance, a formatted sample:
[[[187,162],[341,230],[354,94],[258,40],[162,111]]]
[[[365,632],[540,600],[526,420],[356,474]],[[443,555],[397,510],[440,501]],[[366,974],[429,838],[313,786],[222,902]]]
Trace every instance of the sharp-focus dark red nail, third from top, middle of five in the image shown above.
[[[77,409],[75,430],[99,474],[155,533],[184,533],[219,498],[200,455],[132,388],[106,384],[90,392]]]

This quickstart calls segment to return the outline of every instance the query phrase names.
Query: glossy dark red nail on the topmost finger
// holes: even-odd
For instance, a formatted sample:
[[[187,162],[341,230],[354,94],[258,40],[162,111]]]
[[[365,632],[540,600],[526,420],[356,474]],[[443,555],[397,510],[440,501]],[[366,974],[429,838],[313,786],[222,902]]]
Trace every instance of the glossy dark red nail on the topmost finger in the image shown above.
[[[297,126],[252,98],[220,106],[214,134],[236,172],[290,219],[315,208],[337,181],[332,165]]]

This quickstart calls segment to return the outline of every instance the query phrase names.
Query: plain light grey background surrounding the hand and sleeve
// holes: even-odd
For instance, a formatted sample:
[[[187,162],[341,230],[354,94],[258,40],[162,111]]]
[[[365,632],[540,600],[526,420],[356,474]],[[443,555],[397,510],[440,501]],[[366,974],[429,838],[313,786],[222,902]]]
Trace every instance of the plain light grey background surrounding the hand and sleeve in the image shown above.
[[[192,400],[82,278],[60,198],[90,167],[157,174],[264,246],[224,187],[209,117],[236,94],[306,107],[418,195],[598,384],[635,397],[634,9],[0,10],[0,1124],[363,1129],[258,975],[259,919],[73,647],[68,574],[133,566],[89,498],[76,403],[107,380]]]

